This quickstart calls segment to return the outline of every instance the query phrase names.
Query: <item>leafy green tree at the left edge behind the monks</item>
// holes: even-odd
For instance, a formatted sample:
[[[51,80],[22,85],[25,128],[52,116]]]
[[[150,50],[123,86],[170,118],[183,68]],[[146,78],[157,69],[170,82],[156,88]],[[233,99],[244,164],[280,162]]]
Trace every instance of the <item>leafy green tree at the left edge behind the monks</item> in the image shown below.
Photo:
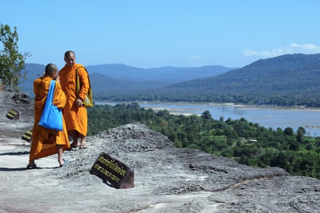
[[[0,82],[7,87],[17,89],[22,79],[26,79],[26,73],[21,74],[21,70],[24,68],[24,59],[29,53],[18,52],[16,27],[11,31],[9,25],[0,24],[0,41],[4,48],[0,50]]]

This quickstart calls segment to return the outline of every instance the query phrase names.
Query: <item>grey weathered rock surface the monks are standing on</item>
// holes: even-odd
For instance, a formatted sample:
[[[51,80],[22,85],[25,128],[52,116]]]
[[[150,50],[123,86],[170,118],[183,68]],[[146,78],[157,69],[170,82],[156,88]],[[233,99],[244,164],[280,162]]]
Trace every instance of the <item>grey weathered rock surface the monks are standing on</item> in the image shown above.
[[[87,137],[87,149],[63,153],[67,167],[59,168],[53,155],[26,170],[30,144],[20,138],[32,128],[33,106],[20,109],[20,121],[9,120],[15,101],[3,96],[0,212],[320,212],[319,180],[174,148],[139,123]],[[115,189],[90,174],[102,152],[135,170],[135,188]]]

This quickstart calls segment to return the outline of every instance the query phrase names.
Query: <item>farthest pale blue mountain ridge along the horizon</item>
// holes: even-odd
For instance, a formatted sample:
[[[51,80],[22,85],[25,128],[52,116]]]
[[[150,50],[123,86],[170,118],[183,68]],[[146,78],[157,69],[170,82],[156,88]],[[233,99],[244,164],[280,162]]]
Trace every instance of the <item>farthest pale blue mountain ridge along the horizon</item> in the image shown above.
[[[166,81],[171,83],[197,78],[213,77],[235,69],[219,65],[202,67],[137,68],[124,64],[86,66],[88,73],[99,73],[116,79],[133,81]]]

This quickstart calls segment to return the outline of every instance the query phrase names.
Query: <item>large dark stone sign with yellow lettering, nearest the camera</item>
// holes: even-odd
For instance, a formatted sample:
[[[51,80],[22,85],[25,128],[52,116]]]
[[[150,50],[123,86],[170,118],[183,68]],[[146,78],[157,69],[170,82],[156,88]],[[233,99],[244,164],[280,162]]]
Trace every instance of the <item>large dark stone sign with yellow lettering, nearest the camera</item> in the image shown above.
[[[90,172],[104,182],[108,181],[116,189],[135,187],[135,171],[104,152],[94,162]]]

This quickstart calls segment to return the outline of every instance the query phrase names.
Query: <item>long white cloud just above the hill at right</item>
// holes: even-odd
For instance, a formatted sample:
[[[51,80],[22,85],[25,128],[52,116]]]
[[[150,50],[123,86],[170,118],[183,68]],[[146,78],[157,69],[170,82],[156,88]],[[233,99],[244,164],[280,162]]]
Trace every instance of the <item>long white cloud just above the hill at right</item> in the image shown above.
[[[285,47],[280,47],[273,50],[265,50],[265,51],[254,51],[251,49],[246,49],[243,51],[243,54],[245,57],[250,56],[262,56],[262,57],[276,57],[279,55],[285,55],[285,54],[294,54],[294,53],[304,53],[304,54],[315,54],[320,53],[320,46],[316,46],[313,44],[304,44],[304,45],[298,45],[291,43],[290,45],[287,45]]]

